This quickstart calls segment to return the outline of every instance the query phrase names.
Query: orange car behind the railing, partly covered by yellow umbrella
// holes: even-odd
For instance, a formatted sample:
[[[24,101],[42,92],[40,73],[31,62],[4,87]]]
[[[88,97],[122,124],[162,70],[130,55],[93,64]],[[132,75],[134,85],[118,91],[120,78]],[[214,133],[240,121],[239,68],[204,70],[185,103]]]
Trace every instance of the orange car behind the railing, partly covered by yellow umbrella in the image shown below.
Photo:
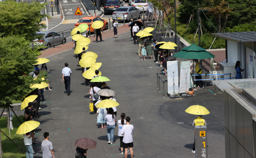
[[[103,29],[108,30],[108,21],[102,20],[100,16],[92,16],[92,15],[86,16],[80,19],[80,24],[88,24],[88,28],[87,28],[88,33],[89,33],[89,30],[91,32],[94,32],[94,28],[92,28],[92,22],[95,22],[97,20],[102,21],[104,23]],[[79,21],[75,24],[75,28],[77,26],[79,26]]]

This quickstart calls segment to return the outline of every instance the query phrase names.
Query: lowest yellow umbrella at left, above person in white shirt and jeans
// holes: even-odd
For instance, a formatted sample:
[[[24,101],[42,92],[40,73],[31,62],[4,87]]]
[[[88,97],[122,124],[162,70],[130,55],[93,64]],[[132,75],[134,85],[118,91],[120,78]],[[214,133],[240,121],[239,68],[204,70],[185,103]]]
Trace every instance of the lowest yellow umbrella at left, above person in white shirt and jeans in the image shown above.
[[[26,134],[34,129],[36,129],[39,126],[40,122],[37,121],[26,121],[23,124],[21,124],[16,131],[16,134]]]

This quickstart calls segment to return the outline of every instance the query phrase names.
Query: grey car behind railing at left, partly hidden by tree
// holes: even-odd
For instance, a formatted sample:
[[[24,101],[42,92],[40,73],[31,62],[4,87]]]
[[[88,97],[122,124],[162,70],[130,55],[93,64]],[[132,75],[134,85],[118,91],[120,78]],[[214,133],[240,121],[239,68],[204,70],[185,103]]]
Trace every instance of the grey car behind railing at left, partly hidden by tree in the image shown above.
[[[56,44],[63,44],[63,38],[62,38],[62,34],[58,34],[57,32],[54,31],[40,31],[40,32],[36,32],[35,35],[44,35],[44,46],[47,46],[47,48],[51,48],[51,46],[53,45],[53,34],[54,34],[54,45]],[[38,40],[35,39],[33,41],[34,45],[42,45],[43,44],[43,40]],[[66,43],[66,36],[64,35],[64,43]],[[31,44],[32,47],[32,44]]]

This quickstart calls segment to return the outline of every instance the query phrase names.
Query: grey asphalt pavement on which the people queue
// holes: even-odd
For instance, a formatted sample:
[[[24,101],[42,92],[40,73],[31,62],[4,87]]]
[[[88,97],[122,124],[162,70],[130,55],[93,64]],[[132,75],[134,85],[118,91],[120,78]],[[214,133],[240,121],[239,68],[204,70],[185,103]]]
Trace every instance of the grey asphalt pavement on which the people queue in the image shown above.
[[[184,110],[191,105],[205,106],[210,114],[203,118],[208,128],[208,156],[220,158],[225,155],[223,93],[213,95],[209,90],[200,88],[192,98],[161,98],[163,93],[156,92],[156,73],[167,81],[159,63],[154,60],[141,60],[138,45],[128,39],[130,32],[102,43],[91,43],[88,51],[98,54],[97,62],[102,62],[100,71],[111,81],[108,86],[116,92],[117,120],[122,112],[131,117],[134,125],[135,158],[194,158],[191,148],[194,142],[194,115]],[[114,144],[107,144],[106,128],[101,129],[96,123],[97,116],[89,113],[89,87],[85,86],[82,70],[74,50],[68,50],[49,57],[47,66],[50,70],[49,80],[52,91],[45,91],[46,103],[40,103],[42,115],[37,121],[41,123],[36,129],[35,139],[44,140],[44,132],[49,132],[56,158],[72,158],[75,154],[75,140],[92,138],[97,142],[96,149],[88,150],[88,158],[124,158],[120,155],[118,128],[114,132]],[[178,61],[182,61],[178,59]],[[62,68],[68,62],[72,70],[71,94],[67,96],[62,81]],[[165,85],[167,91],[167,84]],[[213,86],[208,86],[213,91]],[[15,106],[17,114],[19,110]],[[42,157],[40,145],[34,145],[35,158]],[[129,156],[128,156],[129,157]]]

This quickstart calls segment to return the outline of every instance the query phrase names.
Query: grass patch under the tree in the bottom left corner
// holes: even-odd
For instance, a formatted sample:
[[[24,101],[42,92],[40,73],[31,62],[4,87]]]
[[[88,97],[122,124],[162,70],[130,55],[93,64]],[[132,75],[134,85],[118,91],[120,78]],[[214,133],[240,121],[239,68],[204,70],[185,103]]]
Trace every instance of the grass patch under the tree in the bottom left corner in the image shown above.
[[[23,121],[24,116],[19,116],[20,121]],[[11,139],[17,144],[23,152],[26,153],[26,147],[24,145],[23,135],[16,134],[20,122],[14,115],[12,118],[13,130],[11,130]],[[0,118],[0,128],[9,137],[9,130],[7,128],[7,117]],[[23,154],[4,134],[1,132],[3,158],[26,158],[26,154]]]

